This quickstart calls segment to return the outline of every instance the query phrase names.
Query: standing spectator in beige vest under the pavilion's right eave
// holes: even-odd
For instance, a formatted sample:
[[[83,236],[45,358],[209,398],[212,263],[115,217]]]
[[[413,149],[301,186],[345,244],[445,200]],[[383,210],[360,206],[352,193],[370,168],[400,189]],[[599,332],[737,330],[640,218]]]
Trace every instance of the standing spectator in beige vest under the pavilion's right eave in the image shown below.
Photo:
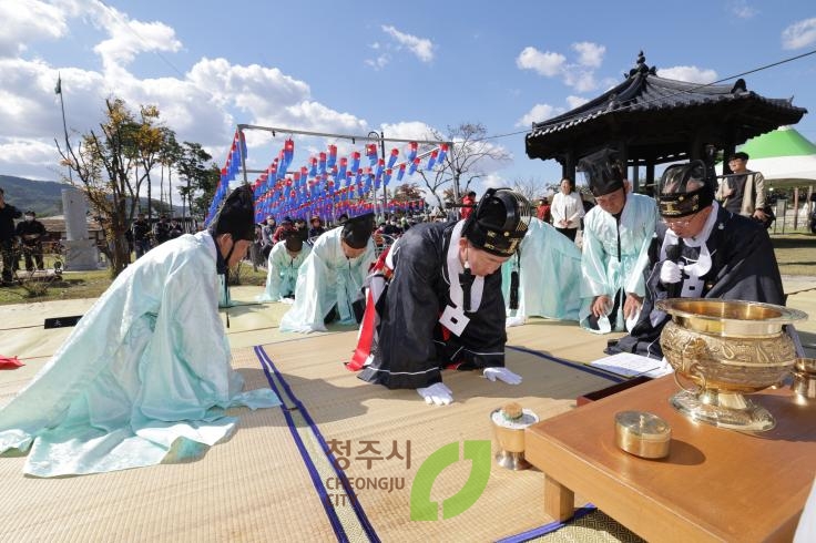
[[[720,184],[716,199],[731,213],[753,217],[761,223],[767,218],[765,213],[765,177],[759,172],[747,168],[748,154],[734,153],[728,158],[733,175]]]

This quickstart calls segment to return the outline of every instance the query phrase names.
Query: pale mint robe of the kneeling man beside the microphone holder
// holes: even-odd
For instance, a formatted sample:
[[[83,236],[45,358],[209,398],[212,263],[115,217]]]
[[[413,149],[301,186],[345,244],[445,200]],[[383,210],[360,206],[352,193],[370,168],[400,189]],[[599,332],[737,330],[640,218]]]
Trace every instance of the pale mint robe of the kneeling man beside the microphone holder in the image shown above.
[[[608,317],[602,317],[599,319],[600,330],[591,330],[589,317],[592,303],[596,296],[606,295],[614,304],[621,289],[643,297],[643,270],[649,264],[649,246],[656,222],[655,201],[634,193],[626,194],[620,222],[600,206],[586,213],[583,219],[582,300],[579,315],[582,328],[599,334],[624,329],[621,300],[615,322],[609,322]],[[609,306],[610,310],[612,304]]]

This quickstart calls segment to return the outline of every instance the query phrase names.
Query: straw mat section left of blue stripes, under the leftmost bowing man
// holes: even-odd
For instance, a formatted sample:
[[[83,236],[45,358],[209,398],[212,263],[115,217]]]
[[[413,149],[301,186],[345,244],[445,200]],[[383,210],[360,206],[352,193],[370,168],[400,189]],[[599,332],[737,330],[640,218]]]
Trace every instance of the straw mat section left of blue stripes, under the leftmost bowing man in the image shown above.
[[[233,366],[268,387],[252,351]],[[284,411],[230,414],[232,438],[187,463],[35,479],[0,459],[0,541],[335,541]]]

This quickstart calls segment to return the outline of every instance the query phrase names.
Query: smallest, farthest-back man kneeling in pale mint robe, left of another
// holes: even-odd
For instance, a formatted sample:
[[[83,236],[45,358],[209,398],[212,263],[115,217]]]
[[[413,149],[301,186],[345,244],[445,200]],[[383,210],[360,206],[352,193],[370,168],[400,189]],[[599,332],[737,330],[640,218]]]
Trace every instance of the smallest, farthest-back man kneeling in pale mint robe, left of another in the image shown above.
[[[297,270],[312,252],[312,247],[304,244],[306,234],[306,230],[289,230],[284,234],[284,240],[272,248],[266,289],[257,297],[257,301],[290,301],[295,297]]]

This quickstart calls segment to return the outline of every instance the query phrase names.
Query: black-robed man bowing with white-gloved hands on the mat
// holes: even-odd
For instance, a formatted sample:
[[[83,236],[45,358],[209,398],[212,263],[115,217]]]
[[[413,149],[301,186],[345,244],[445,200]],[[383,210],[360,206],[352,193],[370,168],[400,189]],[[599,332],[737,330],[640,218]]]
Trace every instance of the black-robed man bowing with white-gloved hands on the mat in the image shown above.
[[[501,264],[517,250],[531,215],[523,196],[491,188],[458,223],[412,227],[367,280],[360,341],[350,369],[390,389],[412,388],[428,403],[452,393],[443,368],[479,369],[518,385],[504,368]]]

